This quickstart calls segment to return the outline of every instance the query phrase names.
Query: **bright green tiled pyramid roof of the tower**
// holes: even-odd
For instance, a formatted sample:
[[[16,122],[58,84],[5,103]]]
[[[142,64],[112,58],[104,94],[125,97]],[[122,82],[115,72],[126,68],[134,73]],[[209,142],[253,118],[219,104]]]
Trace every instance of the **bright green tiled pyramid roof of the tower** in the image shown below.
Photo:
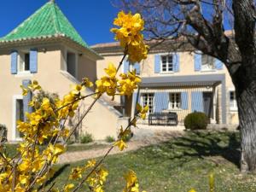
[[[54,1],[50,1],[22,22],[15,30],[0,38],[0,43],[59,36],[70,38],[83,47],[90,49],[67,20],[67,17],[63,15],[61,9]]]

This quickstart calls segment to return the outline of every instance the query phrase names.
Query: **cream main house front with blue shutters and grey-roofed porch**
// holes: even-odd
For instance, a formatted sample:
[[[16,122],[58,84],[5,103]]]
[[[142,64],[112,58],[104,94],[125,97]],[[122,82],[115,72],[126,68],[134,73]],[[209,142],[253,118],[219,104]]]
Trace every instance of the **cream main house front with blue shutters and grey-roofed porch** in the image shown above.
[[[238,125],[235,87],[224,64],[188,45],[173,48],[168,44],[176,43],[151,44],[154,48],[139,64],[124,61],[122,72],[136,68],[142,78],[132,98],[118,99],[124,115],[134,115],[139,102],[149,106],[148,113],[177,113],[179,125],[194,111],[206,113],[212,124]],[[104,57],[97,61],[97,76],[108,62],[118,64],[122,57],[118,43],[92,48]],[[148,119],[141,123],[148,124]]]

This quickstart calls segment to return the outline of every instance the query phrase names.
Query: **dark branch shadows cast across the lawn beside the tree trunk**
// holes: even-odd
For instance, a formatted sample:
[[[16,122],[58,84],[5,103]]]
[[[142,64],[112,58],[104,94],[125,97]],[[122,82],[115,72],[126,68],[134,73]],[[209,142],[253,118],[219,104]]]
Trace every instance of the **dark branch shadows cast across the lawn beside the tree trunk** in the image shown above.
[[[221,163],[220,160],[213,160],[212,157],[221,156],[239,167],[241,153],[239,147],[238,132],[188,131],[183,137],[149,147],[148,149],[153,153],[148,154],[149,158],[178,161],[179,166],[199,158],[209,158],[218,165]]]

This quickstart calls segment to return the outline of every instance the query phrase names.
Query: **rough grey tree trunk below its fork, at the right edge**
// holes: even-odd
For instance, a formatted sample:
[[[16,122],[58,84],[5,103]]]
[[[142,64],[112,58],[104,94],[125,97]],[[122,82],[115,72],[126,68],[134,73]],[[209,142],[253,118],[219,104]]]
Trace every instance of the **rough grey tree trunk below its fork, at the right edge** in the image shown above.
[[[241,77],[241,79],[245,79],[243,82],[247,82],[247,86],[236,84],[236,100],[241,129],[241,172],[255,172],[256,81],[248,81],[248,77]]]

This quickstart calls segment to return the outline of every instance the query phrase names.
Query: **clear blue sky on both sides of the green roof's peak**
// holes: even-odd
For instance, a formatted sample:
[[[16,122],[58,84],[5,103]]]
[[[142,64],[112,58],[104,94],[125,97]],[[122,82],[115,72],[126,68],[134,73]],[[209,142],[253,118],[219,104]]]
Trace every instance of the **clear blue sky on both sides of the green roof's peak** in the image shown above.
[[[48,0],[1,1],[0,37],[3,37],[23,20],[32,15]],[[55,0],[64,15],[89,44],[113,42],[109,32],[119,9],[110,0]]]

